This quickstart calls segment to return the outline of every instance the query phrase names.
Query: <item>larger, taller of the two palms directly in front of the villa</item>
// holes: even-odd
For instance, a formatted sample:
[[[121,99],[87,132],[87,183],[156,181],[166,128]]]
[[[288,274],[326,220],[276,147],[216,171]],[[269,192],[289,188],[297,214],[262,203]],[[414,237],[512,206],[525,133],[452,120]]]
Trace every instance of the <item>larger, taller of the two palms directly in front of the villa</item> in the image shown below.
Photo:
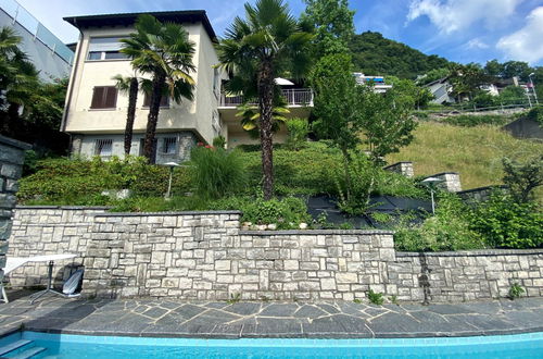
[[[121,41],[125,44],[121,51],[132,59],[132,67],[151,77],[143,154],[152,163],[163,89],[166,87],[168,96],[177,103],[180,103],[181,98],[193,98],[194,81],[190,72],[195,71],[192,63],[194,42],[189,40],[189,35],[181,25],[161,23],[149,14],[140,15],[136,21],[136,33]]]

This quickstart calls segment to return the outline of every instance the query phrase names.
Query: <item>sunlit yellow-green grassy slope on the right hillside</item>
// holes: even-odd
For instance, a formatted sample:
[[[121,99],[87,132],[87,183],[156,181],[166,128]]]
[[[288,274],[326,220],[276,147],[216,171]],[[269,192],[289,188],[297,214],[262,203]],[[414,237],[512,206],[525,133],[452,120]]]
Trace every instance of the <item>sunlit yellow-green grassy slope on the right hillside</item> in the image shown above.
[[[496,126],[424,122],[415,140],[387,160],[414,162],[416,175],[459,172],[463,189],[469,189],[500,184],[503,157],[523,160],[542,152],[543,143],[514,138]]]

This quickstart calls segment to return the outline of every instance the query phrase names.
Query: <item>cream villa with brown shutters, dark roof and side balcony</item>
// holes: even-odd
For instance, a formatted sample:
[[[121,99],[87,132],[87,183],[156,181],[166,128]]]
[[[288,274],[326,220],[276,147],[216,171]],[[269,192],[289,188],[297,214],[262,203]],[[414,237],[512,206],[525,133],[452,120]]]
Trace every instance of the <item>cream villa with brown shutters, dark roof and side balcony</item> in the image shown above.
[[[81,156],[123,157],[124,131],[128,96],[115,88],[113,76],[134,76],[130,60],[119,52],[119,39],[135,32],[134,24],[141,13],[105,14],[65,17],[80,32],[71,74],[66,107],[61,131],[72,136],[72,152]],[[176,22],[189,33],[195,44],[193,63],[197,67],[193,101],[180,104],[164,100],[156,128],[156,163],[187,160],[198,143],[211,144],[224,136],[229,147],[253,144],[236,117],[240,96],[222,91],[227,79],[214,65],[218,63],[214,45],[217,42],[205,11],[172,11],[150,13],[162,22]],[[288,81],[281,86],[290,109],[289,116],[307,117],[313,106],[310,89],[299,88]],[[278,84],[281,84],[278,82]],[[149,100],[138,96],[131,154],[142,154]],[[277,141],[286,137],[281,129]]]

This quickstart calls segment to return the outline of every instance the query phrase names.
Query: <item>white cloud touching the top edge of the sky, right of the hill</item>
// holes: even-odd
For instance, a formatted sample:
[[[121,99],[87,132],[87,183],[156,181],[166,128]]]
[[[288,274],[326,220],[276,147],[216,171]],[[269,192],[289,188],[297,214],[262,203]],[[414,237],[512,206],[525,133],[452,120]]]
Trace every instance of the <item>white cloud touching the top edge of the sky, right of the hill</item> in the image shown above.
[[[522,0],[413,0],[407,22],[428,16],[440,33],[465,30],[477,22],[489,28],[501,24]]]

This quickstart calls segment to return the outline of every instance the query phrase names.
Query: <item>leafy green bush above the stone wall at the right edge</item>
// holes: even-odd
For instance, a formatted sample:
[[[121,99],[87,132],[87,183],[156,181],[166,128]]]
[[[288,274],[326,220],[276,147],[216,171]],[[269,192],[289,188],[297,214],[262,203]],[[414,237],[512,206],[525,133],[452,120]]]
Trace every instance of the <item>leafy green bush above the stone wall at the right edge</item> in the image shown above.
[[[471,228],[493,248],[543,246],[541,208],[534,202],[518,203],[502,190],[495,190],[490,200],[472,210]]]

